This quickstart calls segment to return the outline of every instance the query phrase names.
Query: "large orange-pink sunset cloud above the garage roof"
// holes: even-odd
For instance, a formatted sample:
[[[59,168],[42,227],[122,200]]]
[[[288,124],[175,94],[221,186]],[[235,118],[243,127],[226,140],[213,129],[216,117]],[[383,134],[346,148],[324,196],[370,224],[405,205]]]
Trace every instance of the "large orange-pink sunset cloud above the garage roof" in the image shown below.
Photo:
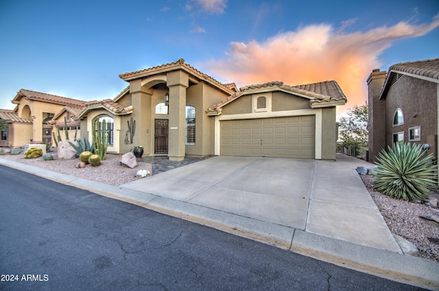
[[[355,19],[342,23],[342,28]],[[307,84],[336,80],[342,87],[348,106],[364,104],[367,98],[366,78],[381,62],[378,56],[392,41],[426,34],[439,26],[439,18],[423,25],[397,23],[366,32],[346,34],[331,25],[307,25],[294,32],[283,32],[259,43],[234,42],[226,58],[202,64],[204,70],[236,82],[238,86],[282,81],[285,84]]]

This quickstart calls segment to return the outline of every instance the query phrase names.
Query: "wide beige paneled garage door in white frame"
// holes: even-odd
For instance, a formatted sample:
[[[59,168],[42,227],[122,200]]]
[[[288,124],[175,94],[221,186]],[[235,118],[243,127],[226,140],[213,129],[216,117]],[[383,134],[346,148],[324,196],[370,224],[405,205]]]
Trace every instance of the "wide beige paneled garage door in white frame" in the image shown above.
[[[314,115],[221,121],[221,154],[314,159]]]

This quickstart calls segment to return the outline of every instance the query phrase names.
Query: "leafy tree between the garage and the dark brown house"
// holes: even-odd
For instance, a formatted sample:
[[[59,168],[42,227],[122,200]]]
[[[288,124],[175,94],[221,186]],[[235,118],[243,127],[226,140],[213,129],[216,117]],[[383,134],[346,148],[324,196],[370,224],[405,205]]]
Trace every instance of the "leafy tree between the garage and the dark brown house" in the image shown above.
[[[368,104],[354,106],[348,109],[346,117],[338,122],[338,138],[342,146],[361,148],[357,155],[364,155],[368,148]]]

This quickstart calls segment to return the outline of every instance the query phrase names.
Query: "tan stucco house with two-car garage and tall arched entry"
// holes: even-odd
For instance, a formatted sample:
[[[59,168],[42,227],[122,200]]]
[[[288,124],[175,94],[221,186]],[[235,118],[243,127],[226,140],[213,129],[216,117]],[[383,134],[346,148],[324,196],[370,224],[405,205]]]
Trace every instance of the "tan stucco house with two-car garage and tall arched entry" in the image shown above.
[[[95,119],[108,152],[143,146],[145,155],[276,156],[335,160],[335,108],[346,97],[335,81],[301,86],[222,84],[180,59],[119,75],[113,100],[86,102],[75,116],[91,138]]]

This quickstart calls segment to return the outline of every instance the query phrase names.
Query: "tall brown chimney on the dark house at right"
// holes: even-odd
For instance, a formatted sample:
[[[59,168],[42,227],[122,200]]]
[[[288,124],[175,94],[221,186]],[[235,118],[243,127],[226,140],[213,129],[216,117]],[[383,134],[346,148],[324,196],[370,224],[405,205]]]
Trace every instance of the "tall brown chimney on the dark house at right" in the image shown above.
[[[368,113],[369,113],[369,162],[375,163],[379,152],[385,148],[385,99],[379,99],[383,89],[386,71],[373,69],[368,84]]]

